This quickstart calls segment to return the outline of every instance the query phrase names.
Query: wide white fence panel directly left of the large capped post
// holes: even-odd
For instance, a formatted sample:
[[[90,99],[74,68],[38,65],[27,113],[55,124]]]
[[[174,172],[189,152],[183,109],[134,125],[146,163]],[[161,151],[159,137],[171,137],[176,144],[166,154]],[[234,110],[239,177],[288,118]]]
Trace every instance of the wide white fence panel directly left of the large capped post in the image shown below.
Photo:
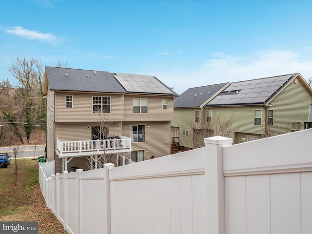
[[[110,169],[112,233],[205,232],[203,152]]]

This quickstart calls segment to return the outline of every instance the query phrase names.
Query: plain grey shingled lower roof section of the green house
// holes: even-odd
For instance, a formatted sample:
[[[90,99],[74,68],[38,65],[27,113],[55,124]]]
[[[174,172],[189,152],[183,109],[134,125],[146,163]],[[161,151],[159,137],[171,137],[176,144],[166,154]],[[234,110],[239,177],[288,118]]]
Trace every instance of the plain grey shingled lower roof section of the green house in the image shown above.
[[[230,83],[189,88],[179,97],[175,98],[174,106],[175,108],[202,107],[228,85]]]

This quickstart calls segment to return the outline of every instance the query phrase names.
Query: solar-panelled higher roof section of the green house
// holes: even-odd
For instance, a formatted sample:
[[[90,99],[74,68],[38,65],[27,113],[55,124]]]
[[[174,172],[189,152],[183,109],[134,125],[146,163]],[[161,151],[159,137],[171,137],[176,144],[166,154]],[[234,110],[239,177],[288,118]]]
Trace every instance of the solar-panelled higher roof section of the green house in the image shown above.
[[[300,78],[306,83],[299,73],[234,82],[207,105],[237,106],[269,104],[294,78]]]

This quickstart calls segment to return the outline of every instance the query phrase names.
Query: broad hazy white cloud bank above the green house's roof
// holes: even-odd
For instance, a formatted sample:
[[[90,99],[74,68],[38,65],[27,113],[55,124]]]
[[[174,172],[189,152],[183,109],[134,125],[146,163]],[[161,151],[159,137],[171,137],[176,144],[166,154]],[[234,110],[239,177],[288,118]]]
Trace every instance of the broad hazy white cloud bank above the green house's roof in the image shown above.
[[[188,88],[223,82],[273,77],[299,72],[303,78],[312,76],[312,57],[309,51],[262,50],[251,55],[234,56],[216,53],[201,67],[187,67],[154,73],[167,86],[181,94]],[[310,51],[311,53],[311,51]],[[305,59],[307,58],[307,59]]]

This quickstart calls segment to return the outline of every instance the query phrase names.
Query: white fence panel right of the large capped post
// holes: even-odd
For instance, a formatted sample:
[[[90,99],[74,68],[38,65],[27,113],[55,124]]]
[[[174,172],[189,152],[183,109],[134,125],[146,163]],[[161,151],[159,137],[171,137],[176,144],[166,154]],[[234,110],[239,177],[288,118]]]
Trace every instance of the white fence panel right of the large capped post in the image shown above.
[[[226,233],[312,233],[311,134],[223,148]]]

